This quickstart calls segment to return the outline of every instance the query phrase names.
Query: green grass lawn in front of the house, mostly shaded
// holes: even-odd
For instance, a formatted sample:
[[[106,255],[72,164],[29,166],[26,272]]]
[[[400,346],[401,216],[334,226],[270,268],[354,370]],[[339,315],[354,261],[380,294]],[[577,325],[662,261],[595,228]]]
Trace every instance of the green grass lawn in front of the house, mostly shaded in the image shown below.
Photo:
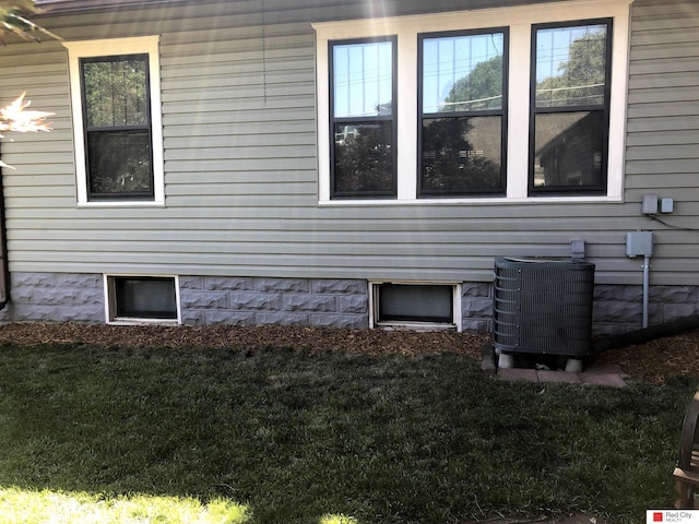
[[[672,507],[698,384],[512,383],[454,355],[3,346],[0,524],[642,523]]]

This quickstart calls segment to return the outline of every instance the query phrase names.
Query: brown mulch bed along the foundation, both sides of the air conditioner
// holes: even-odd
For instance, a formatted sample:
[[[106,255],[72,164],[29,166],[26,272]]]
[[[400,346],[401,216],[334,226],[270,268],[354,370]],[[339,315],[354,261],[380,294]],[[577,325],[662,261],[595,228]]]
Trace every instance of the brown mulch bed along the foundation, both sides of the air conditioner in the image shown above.
[[[447,331],[340,330],[308,326],[164,326],[79,323],[0,325],[0,344],[84,343],[100,346],[256,349],[280,347],[308,352],[345,350],[405,356],[454,353],[481,358],[488,333]],[[699,377],[699,330],[604,352],[597,361],[618,365],[633,379],[663,383],[666,377]]]

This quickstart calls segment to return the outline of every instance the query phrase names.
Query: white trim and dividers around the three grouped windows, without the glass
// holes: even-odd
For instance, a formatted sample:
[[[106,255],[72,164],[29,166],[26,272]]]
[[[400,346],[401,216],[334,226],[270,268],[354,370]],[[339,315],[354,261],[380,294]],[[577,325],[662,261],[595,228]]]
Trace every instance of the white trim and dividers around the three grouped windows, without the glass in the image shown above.
[[[632,0],[571,0],[537,5],[420,14],[312,24],[316,31],[318,109],[318,200],[321,205],[493,204],[621,202],[626,133],[629,16]],[[614,19],[607,192],[605,195],[536,195],[528,193],[530,61],[532,25],[590,19]],[[509,27],[507,72],[507,195],[417,199],[417,35],[442,31]],[[398,35],[398,198],[330,200],[329,57],[332,40]]]

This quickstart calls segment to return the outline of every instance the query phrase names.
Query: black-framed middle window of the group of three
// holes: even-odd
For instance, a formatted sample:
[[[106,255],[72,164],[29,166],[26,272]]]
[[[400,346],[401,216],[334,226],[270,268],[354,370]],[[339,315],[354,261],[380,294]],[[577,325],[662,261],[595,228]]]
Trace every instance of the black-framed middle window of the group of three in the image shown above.
[[[507,36],[419,36],[419,196],[505,192]]]

